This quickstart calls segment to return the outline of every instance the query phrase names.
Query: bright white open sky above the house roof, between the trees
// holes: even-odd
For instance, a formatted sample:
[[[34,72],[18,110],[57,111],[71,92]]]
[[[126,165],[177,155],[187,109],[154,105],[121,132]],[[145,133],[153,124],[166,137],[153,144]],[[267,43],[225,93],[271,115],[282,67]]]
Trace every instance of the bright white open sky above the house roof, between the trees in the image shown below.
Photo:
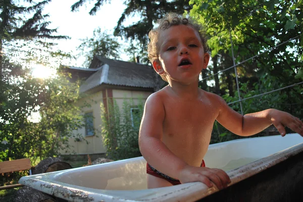
[[[109,33],[113,33],[121,14],[126,8],[126,5],[123,4],[124,0],[112,0],[111,4],[101,6],[96,15],[90,16],[88,13],[95,1],[87,1],[79,8],[78,12],[71,12],[71,6],[76,2],[77,0],[52,0],[43,10],[43,14],[49,15],[47,21],[52,22],[48,26],[49,28],[58,28],[58,35],[71,37],[71,39],[57,40],[56,42],[62,51],[72,54],[79,53],[77,51],[77,47],[81,44],[79,39],[91,38],[93,30],[97,27],[100,27],[102,31],[108,30]],[[125,24],[132,24],[136,20],[139,19],[136,19],[136,17],[126,19]],[[127,60],[128,56],[122,54],[121,59]],[[66,65],[82,67],[84,57],[65,62],[67,62]]]

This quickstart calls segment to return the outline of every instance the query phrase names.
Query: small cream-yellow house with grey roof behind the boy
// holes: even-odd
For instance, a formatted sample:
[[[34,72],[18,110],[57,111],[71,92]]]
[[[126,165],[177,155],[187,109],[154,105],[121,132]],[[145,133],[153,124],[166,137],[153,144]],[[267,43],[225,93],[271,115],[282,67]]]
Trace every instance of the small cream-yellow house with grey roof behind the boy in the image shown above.
[[[85,96],[77,105],[84,106],[82,108],[84,115],[94,117],[86,119],[86,125],[92,126],[95,131],[101,131],[101,106],[108,110],[109,103],[115,99],[121,108],[124,99],[132,99],[134,103],[137,103],[139,97],[145,103],[146,98],[156,91],[155,88],[161,80],[157,78],[152,66],[101,56],[95,56],[88,69],[68,66],[64,71],[71,74],[71,82],[83,80],[80,94]],[[71,139],[70,145],[73,147],[69,154],[73,152],[78,155],[104,154],[106,152],[100,132],[96,136],[93,130],[85,127],[75,133],[80,133],[88,144],[86,141]]]

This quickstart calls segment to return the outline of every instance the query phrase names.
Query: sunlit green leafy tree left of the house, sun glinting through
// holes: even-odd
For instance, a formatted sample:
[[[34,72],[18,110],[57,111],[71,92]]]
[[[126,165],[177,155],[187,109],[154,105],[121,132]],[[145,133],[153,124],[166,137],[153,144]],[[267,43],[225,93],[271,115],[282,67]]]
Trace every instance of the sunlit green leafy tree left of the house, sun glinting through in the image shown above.
[[[15,69],[18,76],[12,74]],[[56,156],[68,149],[72,130],[83,127],[80,109],[73,104],[79,98],[79,85],[65,77],[32,78],[27,69],[8,60],[3,70],[0,161],[33,158],[35,162],[37,157]],[[34,112],[40,114],[38,122],[29,120]]]

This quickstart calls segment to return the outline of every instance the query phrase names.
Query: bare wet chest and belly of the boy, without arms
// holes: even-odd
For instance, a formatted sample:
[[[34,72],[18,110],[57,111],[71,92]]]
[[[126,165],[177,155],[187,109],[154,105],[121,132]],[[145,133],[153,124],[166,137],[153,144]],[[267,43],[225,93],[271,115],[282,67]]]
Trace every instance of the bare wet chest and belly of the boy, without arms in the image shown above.
[[[162,91],[172,90],[165,87]],[[203,90],[199,90],[199,96],[192,99],[172,94],[159,92],[157,96],[165,108],[162,141],[188,165],[199,167],[208,150],[219,108],[212,107],[212,96]],[[201,116],[201,113],[208,116]]]

